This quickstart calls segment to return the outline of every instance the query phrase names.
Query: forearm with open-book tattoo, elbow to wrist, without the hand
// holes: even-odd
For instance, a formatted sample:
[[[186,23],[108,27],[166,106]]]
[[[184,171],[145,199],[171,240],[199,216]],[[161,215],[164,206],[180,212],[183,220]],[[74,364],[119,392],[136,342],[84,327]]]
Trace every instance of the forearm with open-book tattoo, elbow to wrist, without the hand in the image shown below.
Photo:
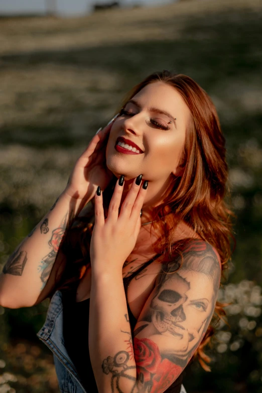
[[[49,291],[43,289],[56,259],[57,268],[62,268],[64,258],[61,251],[58,253],[59,244],[73,214],[71,198],[62,193],[45,217],[18,245],[0,276],[0,304],[3,307],[30,307],[36,304],[41,293],[48,296],[55,284],[54,279],[48,283]],[[42,296],[41,300],[46,296]]]

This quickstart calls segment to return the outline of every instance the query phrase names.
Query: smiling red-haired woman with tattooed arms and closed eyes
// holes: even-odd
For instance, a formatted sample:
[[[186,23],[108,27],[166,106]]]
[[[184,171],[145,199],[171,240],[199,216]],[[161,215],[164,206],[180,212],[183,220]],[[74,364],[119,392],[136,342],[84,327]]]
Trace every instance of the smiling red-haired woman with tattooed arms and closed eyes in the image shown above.
[[[175,393],[194,354],[208,369],[226,180],[216,110],[188,76],[150,75],[94,136],[0,281],[5,307],[52,296],[38,335],[62,392]]]

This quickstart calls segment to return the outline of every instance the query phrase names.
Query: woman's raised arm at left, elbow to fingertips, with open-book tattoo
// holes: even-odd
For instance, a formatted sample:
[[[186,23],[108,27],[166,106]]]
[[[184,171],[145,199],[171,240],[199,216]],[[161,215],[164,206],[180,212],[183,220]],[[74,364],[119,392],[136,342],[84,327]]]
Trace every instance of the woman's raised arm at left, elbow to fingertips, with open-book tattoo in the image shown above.
[[[111,123],[100,130],[77,160],[66,189],[33,231],[8,259],[0,276],[0,305],[30,307],[44,300],[62,273],[65,256],[59,244],[71,221],[95,194],[104,189],[112,173],[104,167]],[[59,252],[58,252],[59,251]]]

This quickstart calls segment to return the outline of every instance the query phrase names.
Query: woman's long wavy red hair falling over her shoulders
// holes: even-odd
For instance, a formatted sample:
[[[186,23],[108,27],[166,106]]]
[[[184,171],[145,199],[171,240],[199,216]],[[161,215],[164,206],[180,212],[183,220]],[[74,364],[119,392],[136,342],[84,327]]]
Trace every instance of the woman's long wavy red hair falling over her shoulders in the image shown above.
[[[190,109],[191,120],[186,130],[180,163],[184,167],[183,174],[181,177],[171,175],[163,203],[152,210],[152,220],[156,220],[152,226],[159,233],[158,240],[153,245],[154,249],[156,253],[164,254],[167,260],[174,253],[181,253],[190,239],[174,243],[173,234],[177,224],[184,220],[198,236],[217,250],[223,274],[231,254],[232,213],[224,201],[228,174],[225,139],[215,106],[208,94],[189,76],[164,70],[149,75],[136,85],[124,98],[122,107],[149,83],[157,81],[167,83],[181,94]],[[115,181],[116,178],[113,178],[103,193],[105,209],[108,208]],[[166,219],[161,219],[164,216],[167,216]],[[68,288],[73,281],[77,282],[90,264],[89,246],[93,219],[93,205],[90,204],[89,212],[85,217],[78,218],[78,223],[73,225],[63,241],[62,246],[70,263],[66,264],[64,274],[59,280],[59,289]],[[223,316],[223,305],[217,302],[214,320]],[[210,325],[194,355],[206,370],[209,370],[206,362],[210,359],[203,348],[210,341],[213,332],[214,328]]]

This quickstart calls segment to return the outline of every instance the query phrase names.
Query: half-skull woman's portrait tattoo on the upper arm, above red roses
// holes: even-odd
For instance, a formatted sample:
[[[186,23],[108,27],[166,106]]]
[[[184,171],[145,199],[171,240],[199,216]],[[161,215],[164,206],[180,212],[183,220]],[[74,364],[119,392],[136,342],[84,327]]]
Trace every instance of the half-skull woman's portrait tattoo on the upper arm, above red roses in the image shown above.
[[[179,255],[162,265],[150,307],[139,318],[140,325],[148,325],[138,337],[152,336],[156,342],[167,337],[165,358],[184,367],[211,321],[221,270],[216,252],[203,240],[188,242],[182,252],[182,260]]]

